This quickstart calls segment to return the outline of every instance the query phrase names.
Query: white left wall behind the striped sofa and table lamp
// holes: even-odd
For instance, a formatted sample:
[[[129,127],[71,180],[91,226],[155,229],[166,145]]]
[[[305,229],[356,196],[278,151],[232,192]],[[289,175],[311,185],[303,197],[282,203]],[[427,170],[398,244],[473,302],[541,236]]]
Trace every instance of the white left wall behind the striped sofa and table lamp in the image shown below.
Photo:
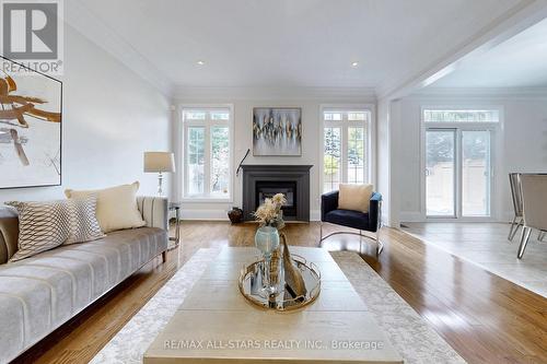
[[[140,180],[142,152],[170,150],[170,99],[70,26],[65,27],[62,186],[0,190],[0,201],[63,198],[66,188]],[[168,188],[168,185],[167,185]],[[168,190],[168,189],[167,189]]]

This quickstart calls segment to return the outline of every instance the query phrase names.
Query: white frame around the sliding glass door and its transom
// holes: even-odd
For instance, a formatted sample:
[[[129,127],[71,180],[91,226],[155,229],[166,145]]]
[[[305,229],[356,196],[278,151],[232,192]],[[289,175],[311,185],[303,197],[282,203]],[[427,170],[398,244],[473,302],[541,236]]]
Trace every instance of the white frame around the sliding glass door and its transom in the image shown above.
[[[427,109],[446,110],[498,110],[498,121],[426,121],[423,111]],[[497,171],[500,171],[502,131],[504,125],[504,107],[502,105],[488,104],[423,104],[420,107],[420,214],[422,221],[459,221],[459,222],[493,222],[498,221],[500,213],[500,189],[498,186]],[[426,133],[428,129],[455,129],[455,174],[454,174],[454,216],[428,216],[427,215],[427,187],[426,187]],[[490,215],[489,216],[464,216],[462,214],[462,132],[463,131],[490,131]]]

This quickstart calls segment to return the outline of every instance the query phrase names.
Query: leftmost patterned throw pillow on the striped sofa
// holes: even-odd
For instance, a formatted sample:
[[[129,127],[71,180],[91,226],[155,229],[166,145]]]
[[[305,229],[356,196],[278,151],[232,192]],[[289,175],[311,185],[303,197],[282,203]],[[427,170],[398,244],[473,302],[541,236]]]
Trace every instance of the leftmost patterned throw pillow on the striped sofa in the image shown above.
[[[32,257],[61,245],[69,236],[63,201],[7,202],[19,212],[18,251],[10,261]]]

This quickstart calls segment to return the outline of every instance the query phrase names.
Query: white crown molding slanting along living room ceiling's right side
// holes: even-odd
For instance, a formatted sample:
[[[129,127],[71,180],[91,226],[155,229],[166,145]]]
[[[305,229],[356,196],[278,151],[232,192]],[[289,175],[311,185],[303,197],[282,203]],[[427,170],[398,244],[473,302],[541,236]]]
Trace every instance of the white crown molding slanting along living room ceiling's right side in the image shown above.
[[[421,70],[407,72],[403,80],[389,80],[376,89],[379,98],[396,99],[428,86],[453,72],[472,52],[486,51],[547,16],[546,0],[522,0],[469,39]]]

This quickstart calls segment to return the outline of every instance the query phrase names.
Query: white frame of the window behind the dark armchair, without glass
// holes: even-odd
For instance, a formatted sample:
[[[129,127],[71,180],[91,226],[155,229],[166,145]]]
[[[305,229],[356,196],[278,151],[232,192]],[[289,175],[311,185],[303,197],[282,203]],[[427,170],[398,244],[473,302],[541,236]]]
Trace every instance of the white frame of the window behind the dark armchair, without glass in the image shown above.
[[[368,111],[369,120],[365,121],[330,121],[325,120],[324,113],[325,111]],[[325,141],[325,128],[326,127],[341,127],[341,150],[342,150],[342,173],[341,173],[341,183],[348,180],[348,168],[347,168],[347,160],[348,160],[348,127],[364,127],[365,128],[365,155],[366,160],[364,163],[366,164],[365,168],[365,183],[370,183],[376,186],[376,155],[374,151],[376,150],[376,114],[375,114],[375,105],[374,104],[323,104],[319,105],[319,119],[321,119],[321,142],[319,144],[319,198],[323,195],[324,187],[324,173],[325,173],[325,162],[324,162],[324,141]]]

